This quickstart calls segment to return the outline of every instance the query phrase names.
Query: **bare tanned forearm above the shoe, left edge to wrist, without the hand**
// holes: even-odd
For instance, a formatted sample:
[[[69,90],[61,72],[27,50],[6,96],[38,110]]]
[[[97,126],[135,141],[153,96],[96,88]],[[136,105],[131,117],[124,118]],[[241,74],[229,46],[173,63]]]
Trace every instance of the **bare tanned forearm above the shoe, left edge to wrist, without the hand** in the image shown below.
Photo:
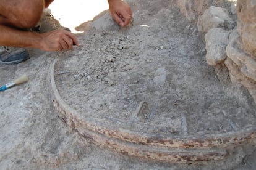
[[[35,32],[0,25],[0,37],[0,46],[41,48],[41,36]]]

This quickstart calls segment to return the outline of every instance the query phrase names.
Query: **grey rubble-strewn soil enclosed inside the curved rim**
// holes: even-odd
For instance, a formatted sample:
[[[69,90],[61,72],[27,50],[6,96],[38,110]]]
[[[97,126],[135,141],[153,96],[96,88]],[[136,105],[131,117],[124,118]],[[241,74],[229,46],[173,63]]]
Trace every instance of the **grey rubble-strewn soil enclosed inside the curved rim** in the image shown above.
[[[62,98],[84,118],[140,135],[215,134],[255,126],[249,93],[218,81],[196,28],[177,8],[165,6],[168,2],[158,4],[157,14],[148,9],[150,18],[135,11],[134,26],[127,30],[107,25],[81,36],[82,45],[56,64]],[[142,102],[147,108],[139,111]]]

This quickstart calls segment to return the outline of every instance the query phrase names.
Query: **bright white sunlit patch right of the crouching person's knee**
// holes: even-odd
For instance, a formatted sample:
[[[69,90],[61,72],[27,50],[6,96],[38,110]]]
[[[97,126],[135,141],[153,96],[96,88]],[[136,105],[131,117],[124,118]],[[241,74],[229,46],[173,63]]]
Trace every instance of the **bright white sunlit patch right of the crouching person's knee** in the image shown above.
[[[108,9],[107,0],[55,0],[49,6],[54,18],[62,26],[69,28],[72,33],[78,33],[76,26],[92,20],[93,17]]]

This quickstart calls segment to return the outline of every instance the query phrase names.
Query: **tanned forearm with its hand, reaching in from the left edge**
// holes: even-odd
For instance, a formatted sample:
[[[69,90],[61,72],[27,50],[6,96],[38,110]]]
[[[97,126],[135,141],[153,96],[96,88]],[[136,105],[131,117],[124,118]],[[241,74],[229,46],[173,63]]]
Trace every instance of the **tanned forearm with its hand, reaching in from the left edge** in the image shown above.
[[[78,45],[74,34],[65,30],[39,34],[0,25],[0,37],[1,46],[32,47],[43,51],[61,51],[72,49],[73,44]]]

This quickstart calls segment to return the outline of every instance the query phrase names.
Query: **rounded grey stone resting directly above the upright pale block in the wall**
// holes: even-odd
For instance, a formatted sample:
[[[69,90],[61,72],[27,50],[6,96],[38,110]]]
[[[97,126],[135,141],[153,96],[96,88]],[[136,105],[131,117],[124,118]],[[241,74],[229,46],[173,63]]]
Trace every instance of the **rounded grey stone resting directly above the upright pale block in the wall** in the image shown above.
[[[234,28],[234,21],[228,15],[228,10],[211,6],[203,12],[198,18],[198,31],[207,33],[211,28],[223,28],[224,30],[231,30]]]

